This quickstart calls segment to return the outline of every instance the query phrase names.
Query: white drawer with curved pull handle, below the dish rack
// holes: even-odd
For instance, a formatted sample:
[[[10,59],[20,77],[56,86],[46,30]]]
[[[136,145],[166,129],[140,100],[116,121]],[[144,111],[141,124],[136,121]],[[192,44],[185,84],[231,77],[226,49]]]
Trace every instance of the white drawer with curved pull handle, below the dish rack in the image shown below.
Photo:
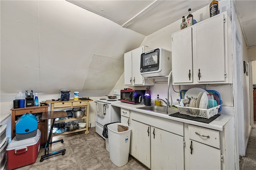
[[[188,125],[188,133],[190,139],[220,149],[220,131]]]

